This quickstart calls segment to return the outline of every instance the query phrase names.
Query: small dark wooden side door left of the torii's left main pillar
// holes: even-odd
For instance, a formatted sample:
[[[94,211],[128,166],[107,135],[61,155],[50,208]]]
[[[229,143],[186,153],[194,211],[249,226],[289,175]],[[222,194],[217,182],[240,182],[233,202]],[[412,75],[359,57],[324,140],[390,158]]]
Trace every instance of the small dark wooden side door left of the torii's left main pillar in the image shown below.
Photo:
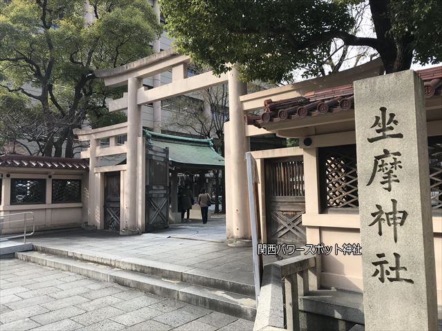
[[[119,232],[119,172],[104,175],[104,230]]]

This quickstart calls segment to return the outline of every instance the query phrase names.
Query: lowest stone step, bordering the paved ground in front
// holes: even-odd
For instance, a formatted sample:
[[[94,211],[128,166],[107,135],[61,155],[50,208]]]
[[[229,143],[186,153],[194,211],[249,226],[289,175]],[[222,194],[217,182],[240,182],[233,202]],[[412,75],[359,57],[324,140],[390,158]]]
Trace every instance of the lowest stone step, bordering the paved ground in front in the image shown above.
[[[249,321],[254,321],[256,315],[255,299],[243,294],[37,251],[17,252],[15,257],[55,269],[75,272],[100,281],[110,281],[129,288],[136,288],[161,297],[184,301]]]

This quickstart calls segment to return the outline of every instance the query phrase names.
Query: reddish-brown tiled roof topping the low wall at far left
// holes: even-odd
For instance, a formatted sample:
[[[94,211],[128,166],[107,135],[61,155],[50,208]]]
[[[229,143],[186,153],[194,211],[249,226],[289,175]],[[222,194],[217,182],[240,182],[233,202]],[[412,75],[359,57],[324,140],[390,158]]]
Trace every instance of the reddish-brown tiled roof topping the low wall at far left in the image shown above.
[[[6,154],[0,156],[0,167],[89,170],[89,161],[84,159],[65,159],[63,157]]]

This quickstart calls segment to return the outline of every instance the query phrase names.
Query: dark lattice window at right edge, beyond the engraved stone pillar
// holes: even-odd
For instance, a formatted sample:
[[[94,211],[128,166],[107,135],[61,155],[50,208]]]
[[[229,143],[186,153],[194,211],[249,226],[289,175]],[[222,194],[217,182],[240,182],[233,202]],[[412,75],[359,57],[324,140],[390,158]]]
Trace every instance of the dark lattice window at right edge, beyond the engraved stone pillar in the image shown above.
[[[442,137],[428,139],[431,207],[442,210]]]

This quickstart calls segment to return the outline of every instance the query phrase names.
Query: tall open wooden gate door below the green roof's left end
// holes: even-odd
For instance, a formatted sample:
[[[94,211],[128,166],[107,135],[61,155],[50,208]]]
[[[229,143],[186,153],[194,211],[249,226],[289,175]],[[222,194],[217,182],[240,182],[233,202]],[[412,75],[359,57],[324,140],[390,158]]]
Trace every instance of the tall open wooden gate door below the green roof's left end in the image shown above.
[[[146,232],[169,227],[169,150],[146,144]]]

